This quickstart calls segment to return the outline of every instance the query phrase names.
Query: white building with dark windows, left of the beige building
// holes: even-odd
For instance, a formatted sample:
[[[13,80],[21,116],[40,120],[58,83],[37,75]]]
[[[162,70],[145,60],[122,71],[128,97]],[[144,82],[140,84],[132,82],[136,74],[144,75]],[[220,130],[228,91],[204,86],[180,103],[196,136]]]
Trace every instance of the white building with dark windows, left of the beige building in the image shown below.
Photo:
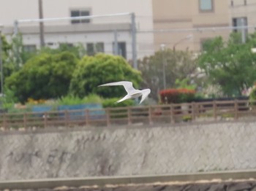
[[[135,13],[136,27],[153,28],[152,4],[148,0],[42,0],[44,18],[77,17],[87,15],[108,15],[124,12]],[[39,18],[39,1],[1,0],[0,23],[3,33],[9,38],[14,31],[15,20]],[[39,47],[39,23],[18,23],[23,34],[23,43],[29,49]],[[113,54],[117,31],[118,54],[132,59],[131,15],[114,17],[94,17],[82,20],[58,20],[44,22],[45,44],[57,47],[59,43],[82,43],[89,54],[106,52]],[[137,57],[143,58],[154,52],[154,34],[137,35]],[[145,44],[146,46],[143,44]]]

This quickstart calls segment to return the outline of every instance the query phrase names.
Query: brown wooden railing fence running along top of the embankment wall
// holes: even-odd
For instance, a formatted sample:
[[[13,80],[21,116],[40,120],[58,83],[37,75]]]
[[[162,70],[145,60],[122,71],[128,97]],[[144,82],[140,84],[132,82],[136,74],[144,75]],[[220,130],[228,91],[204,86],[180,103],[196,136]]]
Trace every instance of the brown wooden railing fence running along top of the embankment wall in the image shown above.
[[[129,106],[107,109],[66,110],[55,112],[5,113],[2,128],[31,128],[73,125],[127,125],[138,122],[177,123],[192,121],[238,120],[256,115],[256,104],[249,101],[208,101],[156,106]]]

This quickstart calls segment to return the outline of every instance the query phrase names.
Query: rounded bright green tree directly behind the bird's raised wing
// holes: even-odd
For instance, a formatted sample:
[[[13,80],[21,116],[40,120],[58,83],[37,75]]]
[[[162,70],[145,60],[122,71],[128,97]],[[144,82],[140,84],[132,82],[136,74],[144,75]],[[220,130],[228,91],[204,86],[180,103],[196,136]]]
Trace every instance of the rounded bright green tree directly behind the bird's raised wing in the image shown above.
[[[125,94],[124,87],[97,86],[121,80],[131,81],[135,87],[142,81],[140,71],[132,69],[121,56],[102,53],[85,56],[74,71],[70,91],[80,97],[91,93],[97,93],[105,98],[120,97]]]

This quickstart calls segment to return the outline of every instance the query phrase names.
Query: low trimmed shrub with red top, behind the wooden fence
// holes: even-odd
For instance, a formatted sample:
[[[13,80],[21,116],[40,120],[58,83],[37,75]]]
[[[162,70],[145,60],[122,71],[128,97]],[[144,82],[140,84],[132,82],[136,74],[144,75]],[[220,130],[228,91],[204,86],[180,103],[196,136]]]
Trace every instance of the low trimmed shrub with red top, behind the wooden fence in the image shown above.
[[[162,104],[191,102],[195,98],[195,90],[185,88],[162,90],[159,94]]]

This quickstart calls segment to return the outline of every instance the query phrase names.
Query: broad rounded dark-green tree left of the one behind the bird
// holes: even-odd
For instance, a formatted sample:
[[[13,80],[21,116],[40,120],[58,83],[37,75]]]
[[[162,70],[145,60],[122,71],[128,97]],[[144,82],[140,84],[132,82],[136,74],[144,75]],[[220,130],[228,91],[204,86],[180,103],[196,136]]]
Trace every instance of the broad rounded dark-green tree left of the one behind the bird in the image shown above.
[[[69,82],[78,59],[70,52],[42,53],[29,59],[24,66],[6,79],[6,87],[19,101],[28,98],[59,98],[67,95]]]

